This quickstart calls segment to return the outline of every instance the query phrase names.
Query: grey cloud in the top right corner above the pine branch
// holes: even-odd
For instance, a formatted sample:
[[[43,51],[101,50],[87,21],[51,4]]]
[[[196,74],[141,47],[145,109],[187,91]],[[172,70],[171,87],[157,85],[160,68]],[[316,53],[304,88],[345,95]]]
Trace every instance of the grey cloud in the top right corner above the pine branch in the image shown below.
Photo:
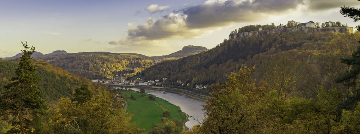
[[[307,0],[306,4],[309,5],[310,10],[328,10],[333,8],[340,8],[342,6],[355,6],[360,5],[356,0]]]

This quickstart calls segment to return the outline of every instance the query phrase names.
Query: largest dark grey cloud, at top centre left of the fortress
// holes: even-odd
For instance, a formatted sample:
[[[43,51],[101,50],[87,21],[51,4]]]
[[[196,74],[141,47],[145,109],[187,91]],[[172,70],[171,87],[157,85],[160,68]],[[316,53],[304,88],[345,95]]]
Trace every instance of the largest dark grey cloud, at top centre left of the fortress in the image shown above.
[[[207,1],[178,12],[188,16],[186,24],[189,28],[206,28],[259,21],[264,19],[264,14],[283,14],[296,9],[299,4],[303,4],[303,0]]]

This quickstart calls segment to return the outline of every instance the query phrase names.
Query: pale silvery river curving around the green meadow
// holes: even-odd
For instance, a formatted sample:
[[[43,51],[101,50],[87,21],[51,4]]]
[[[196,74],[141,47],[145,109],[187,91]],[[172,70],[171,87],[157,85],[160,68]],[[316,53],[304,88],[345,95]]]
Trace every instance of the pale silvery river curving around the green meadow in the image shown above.
[[[114,88],[120,88],[115,87]],[[131,88],[132,90],[139,91],[137,88]],[[181,108],[181,111],[185,112],[189,116],[193,116],[196,120],[199,122],[203,121],[204,118],[204,112],[202,111],[202,105],[205,104],[202,100],[197,100],[191,97],[188,97],[183,94],[176,94],[167,92],[166,94],[163,94],[162,91],[159,90],[151,90],[151,89],[145,89],[145,93],[152,94],[156,97],[162,98],[170,102],[171,104],[174,104],[176,106],[179,106]],[[198,121],[188,118],[189,121],[185,122],[185,126],[189,129],[193,128],[194,125],[199,124]]]

